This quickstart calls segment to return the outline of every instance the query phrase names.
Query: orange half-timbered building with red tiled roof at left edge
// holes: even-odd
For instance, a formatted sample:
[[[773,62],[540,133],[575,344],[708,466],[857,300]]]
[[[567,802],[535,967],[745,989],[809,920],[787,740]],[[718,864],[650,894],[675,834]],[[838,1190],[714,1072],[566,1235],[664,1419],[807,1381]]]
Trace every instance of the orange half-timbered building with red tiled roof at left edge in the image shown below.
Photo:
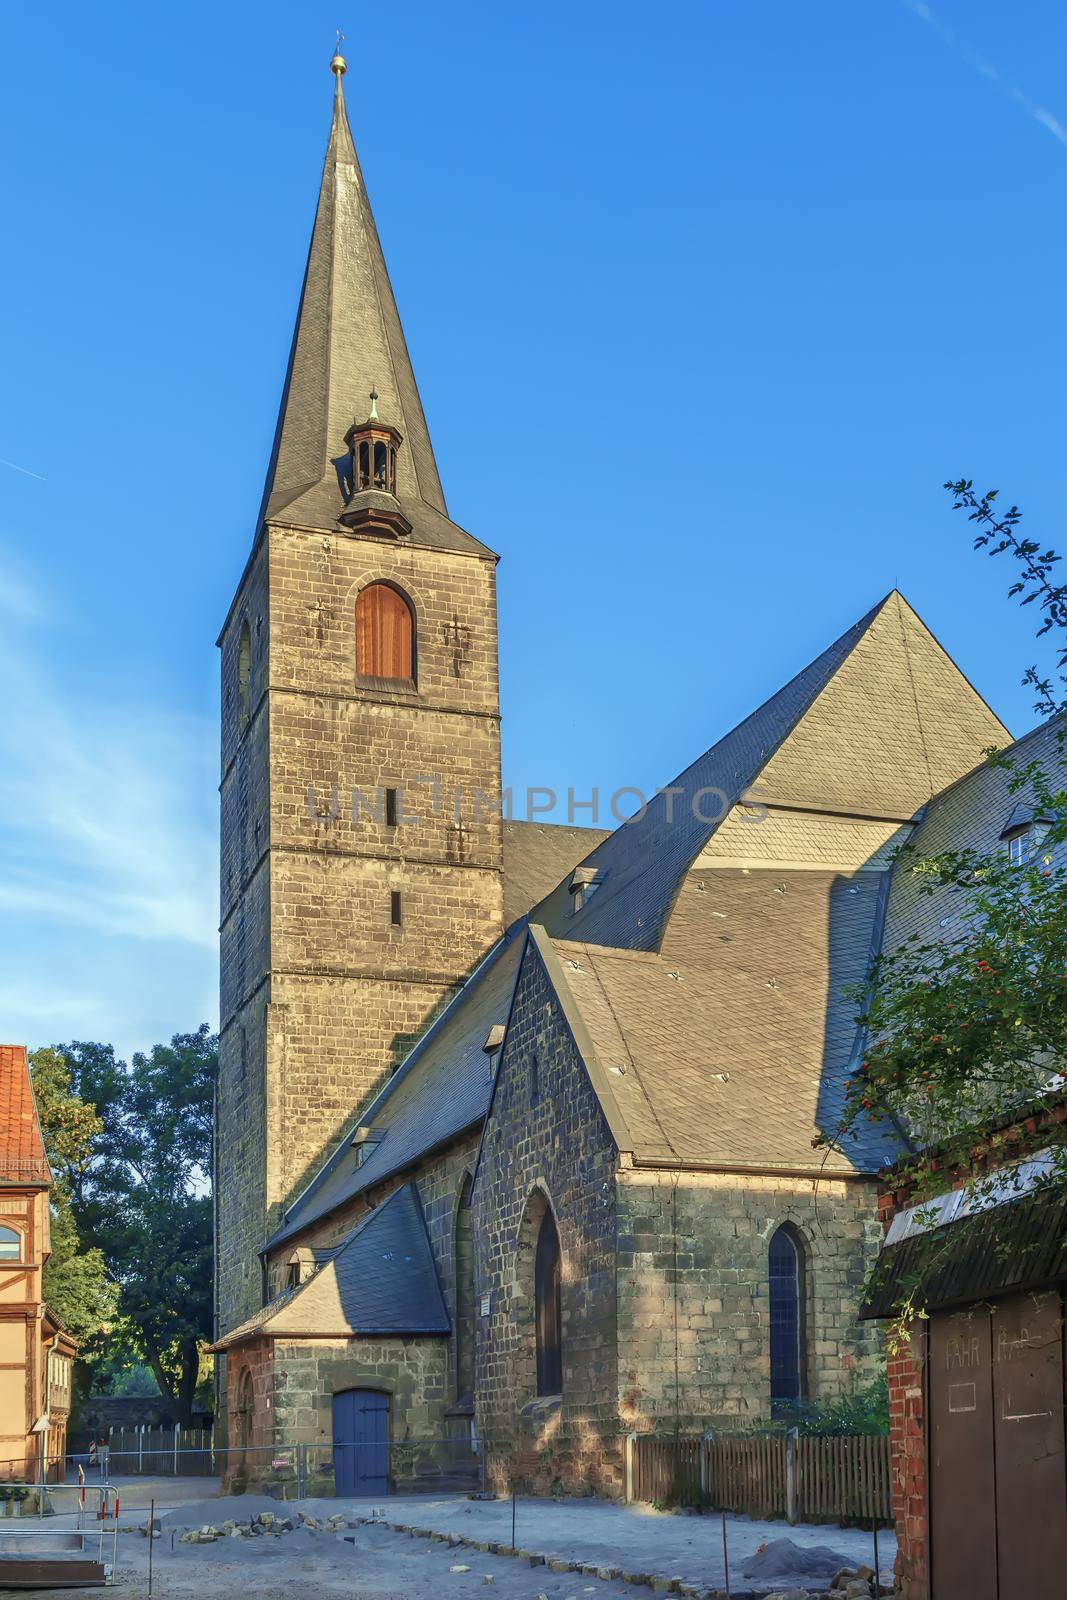
[[[62,1475],[77,1344],[45,1306],[45,1155],[22,1045],[0,1045],[0,1478]]]

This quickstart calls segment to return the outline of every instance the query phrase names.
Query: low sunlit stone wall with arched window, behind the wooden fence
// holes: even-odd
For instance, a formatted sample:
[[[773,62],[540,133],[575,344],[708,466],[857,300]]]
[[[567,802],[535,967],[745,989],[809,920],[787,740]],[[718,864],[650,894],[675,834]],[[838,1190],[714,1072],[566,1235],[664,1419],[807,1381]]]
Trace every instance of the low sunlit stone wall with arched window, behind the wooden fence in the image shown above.
[[[769,1416],[768,1246],[805,1246],[806,1381],[814,1400],[878,1370],[857,1322],[881,1227],[870,1181],[619,1173],[619,1416],[625,1429],[702,1432]]]

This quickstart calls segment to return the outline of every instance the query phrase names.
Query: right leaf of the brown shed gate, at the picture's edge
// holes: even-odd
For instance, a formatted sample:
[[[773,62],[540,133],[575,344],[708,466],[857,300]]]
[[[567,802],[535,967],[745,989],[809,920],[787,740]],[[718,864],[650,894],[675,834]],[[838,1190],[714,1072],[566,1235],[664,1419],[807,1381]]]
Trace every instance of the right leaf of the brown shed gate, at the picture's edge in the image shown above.
[[[992,1331],[1000,1595],[1064,1600],[1067,1462],[1059,1291],[995,1301]]]

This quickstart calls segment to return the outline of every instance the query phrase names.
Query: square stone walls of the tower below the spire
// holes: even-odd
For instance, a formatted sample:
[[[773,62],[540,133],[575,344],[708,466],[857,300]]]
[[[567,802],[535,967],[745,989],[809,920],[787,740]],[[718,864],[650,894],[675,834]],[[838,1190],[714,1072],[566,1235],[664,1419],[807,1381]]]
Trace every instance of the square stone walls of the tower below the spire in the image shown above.
[[[414,686],[357,680],[378,579],[414,608]],[[219,1333],[261,1304],[282,1205],[501,933],[494,560],[269,525],[221,646]]]

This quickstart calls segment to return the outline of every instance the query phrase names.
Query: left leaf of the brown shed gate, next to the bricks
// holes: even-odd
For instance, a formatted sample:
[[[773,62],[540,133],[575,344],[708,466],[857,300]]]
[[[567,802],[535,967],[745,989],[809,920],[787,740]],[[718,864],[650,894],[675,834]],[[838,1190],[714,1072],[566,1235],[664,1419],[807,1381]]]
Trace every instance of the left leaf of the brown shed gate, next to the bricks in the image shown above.
[[[998,1600],[992,1365],[989,1304],[929,1318],[933,1600]]]

